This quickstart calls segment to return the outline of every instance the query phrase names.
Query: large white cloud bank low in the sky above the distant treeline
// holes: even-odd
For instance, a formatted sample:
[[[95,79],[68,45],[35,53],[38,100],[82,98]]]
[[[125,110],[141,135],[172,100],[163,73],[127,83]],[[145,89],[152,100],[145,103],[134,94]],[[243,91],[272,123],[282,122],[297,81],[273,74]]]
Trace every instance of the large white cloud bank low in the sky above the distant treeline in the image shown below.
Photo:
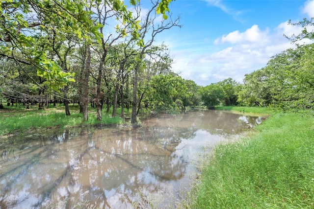
[[[229,77],[242,82],[245,74],[261,69],[271,56],[292,47],[284,33],[291,35],[299,31],[300,28],[288,25],[288,22],[279,24],[273,31],[261,30],[258,25],[244,32],[233,31],[217,38],[214,41],[216,47],[209,51],[175,53],[173,70],[202,86]]]

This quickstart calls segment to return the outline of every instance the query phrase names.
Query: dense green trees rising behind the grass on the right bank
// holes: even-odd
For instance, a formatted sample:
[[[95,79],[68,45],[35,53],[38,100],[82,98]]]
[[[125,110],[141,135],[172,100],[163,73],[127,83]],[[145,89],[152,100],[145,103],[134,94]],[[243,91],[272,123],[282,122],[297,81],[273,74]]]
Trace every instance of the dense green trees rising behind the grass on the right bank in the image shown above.
[[[273,56],[266,67],[245,75],[239,101],[281,109],[313,109],[314,44]]]

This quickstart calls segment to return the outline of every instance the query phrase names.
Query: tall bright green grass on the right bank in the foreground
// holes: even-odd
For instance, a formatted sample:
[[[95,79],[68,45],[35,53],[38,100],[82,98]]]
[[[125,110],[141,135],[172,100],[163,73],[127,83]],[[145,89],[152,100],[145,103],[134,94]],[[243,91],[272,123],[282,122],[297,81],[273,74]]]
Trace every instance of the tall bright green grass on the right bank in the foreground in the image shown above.
[[[313,114],[277,113],[202,167],[183,208],[314,208]]]

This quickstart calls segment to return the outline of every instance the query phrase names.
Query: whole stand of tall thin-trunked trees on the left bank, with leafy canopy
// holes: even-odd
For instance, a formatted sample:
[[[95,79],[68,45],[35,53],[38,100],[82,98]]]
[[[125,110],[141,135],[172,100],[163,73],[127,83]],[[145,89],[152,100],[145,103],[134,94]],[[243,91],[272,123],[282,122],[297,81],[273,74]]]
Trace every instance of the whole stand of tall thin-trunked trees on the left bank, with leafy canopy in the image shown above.
[[[139,0],[129,7],[121,0],[0,1],[0,109],[7,102],[41,109],[63,100],[70,116],[69,104],[79,102],[85,121],[89,101],[97,120],[103,103],[107,112],[113,105],[112,116],[120,103],[132,103],[136,123],[142,87],[170,71],[168,49],[154,44],[163,30],[181,27],[180,17],[169,13],[171,1],[151,1],[145,17]]]

